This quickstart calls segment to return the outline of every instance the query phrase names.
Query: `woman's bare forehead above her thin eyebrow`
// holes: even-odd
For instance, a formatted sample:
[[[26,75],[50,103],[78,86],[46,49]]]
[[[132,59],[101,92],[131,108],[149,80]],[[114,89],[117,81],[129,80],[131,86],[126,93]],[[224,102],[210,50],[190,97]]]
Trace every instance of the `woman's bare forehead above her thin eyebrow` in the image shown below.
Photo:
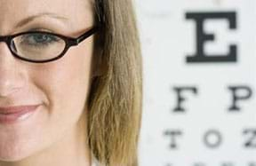
[[[31,15],[49,12],[72,23],[92,20],[92,0],[0,0],[0,29]]]

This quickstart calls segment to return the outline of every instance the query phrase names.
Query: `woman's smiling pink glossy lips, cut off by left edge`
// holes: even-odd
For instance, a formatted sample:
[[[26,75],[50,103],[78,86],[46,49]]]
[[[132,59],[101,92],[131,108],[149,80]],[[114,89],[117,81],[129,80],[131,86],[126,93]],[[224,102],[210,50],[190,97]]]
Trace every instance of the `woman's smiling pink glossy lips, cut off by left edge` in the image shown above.
[[[0,123],[16,123],[28,119],[40,105],[0,107]]]

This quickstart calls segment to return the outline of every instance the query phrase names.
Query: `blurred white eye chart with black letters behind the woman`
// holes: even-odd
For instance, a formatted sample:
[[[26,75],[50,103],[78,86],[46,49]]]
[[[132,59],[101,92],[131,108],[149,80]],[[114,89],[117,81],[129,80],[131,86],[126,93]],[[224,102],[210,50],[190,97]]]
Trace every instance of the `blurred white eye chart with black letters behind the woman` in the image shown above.
[[[256,0],[134,0],[140,166],[256,166]]]

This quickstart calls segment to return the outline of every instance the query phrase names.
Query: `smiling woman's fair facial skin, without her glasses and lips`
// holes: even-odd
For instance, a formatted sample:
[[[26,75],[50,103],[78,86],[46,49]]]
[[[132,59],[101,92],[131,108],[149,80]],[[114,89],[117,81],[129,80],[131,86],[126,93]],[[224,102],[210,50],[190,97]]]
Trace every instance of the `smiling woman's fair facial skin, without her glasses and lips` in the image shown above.
[[[32,16],[38,17],[26,20]],[[93,26],[92,18],[89,0],[0,0],[0,36],[39,28],[76,37]],[[92,42],[91,36],[61,59],[41,64],[14,58],[0,43],[0,107],[39,105],[12,123],[0,114],[0,161],[38,153],[84,125]]]

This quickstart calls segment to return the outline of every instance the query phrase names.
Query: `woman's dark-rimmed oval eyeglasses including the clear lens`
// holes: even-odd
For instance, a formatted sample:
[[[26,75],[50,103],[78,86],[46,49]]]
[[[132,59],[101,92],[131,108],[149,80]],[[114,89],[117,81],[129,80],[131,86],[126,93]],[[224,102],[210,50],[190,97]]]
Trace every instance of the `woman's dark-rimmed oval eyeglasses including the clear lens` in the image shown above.
[[[100,27],[93,27],[77,38],[51,32],[28,31],[12,36],[0,36],[0,42],[8,45],[12,55],[18,59],[34,63],[44,63],[60,59],[71,46],[78,45],[92,36]]]

